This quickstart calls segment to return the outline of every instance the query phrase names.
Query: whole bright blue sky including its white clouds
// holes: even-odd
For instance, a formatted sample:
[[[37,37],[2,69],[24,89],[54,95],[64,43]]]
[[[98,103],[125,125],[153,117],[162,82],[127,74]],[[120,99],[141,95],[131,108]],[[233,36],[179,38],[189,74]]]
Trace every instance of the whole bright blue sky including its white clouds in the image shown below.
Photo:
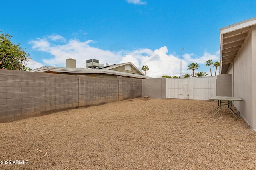
[[[29,67],[66,66],[76,59],[101,64],[132,62],[146,75],[207,72],[220,60],[219,29],[256,17],[255,0],[44,0],[1,2],[0,30],[26,48]],[[215,68],[212,69],[214,74]]]

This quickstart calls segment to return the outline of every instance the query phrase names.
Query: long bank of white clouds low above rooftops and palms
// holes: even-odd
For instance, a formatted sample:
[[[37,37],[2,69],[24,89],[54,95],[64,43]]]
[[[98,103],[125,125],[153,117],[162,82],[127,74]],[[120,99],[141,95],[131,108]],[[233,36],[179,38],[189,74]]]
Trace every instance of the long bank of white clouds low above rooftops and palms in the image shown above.
[[[64,39],[55,35],[56,39]],[[109,51],[102,50],[100,48],[90,46],[91,43],[96,43],[93,40],[80,42],[78,39],[71,39],[66,43],[57,44],[58,42],[52,42],[51,36],[44,38],[37,38],[31,40],[30,44],[32,48],[37,51],[49,53],[54,56],[52,58],[42,59],[43,63],[30,60],[29,67],[39,68],[43,65],[46,66],[66,66],[66,59],[76,59],[77,68],[85,68],[86,60],[97,59],[101,64],[116,64],[132,62],[139,69],[143,65],[147,65],[149,71],[146,72],[147,76],[160,78],[163,75],[168,76],[180,76],[180,56],[176,56],[175,53],[168,54],[166,46],[152,51],[151,49],[138,49],[134,51]],[[205,67],[206,61],[212,59],[212,61],[220,60],[220,52],[217,51],[214,54],[204,52],[204,55],[198,57],[192,54],[182,54],[182,74],[191,74],[191,70],[187,70],[188,64],[196,62],[200,64],[200,68],[197,71],[203,71],[210,73],[210,69]]]

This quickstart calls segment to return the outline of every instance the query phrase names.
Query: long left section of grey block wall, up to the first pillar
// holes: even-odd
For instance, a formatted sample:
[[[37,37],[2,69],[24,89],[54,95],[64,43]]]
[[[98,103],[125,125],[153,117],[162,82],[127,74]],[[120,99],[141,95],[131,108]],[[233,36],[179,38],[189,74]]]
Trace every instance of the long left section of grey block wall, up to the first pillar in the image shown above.
[[[0,70],[0,122],[78,106],[77,76]]]

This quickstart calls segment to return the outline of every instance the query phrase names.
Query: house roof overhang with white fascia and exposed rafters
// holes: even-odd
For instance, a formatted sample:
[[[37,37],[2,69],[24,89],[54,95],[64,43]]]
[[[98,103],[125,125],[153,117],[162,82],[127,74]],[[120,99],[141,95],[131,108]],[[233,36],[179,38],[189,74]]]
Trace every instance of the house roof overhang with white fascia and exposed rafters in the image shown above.
[[[256,17],[220,29],[220,74],[226,74],[255,24]]]

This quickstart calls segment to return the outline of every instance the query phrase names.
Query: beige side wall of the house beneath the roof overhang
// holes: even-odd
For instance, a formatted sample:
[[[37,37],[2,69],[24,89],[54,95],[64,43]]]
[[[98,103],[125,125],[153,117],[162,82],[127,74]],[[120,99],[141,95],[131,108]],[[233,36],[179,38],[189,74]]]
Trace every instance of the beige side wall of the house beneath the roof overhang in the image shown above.
[[[242,102],[234,102],[244,120],[256,129],[256,26],[252,27],[246,43],[238,52],[227,74],[232,74],[232,96]]]

